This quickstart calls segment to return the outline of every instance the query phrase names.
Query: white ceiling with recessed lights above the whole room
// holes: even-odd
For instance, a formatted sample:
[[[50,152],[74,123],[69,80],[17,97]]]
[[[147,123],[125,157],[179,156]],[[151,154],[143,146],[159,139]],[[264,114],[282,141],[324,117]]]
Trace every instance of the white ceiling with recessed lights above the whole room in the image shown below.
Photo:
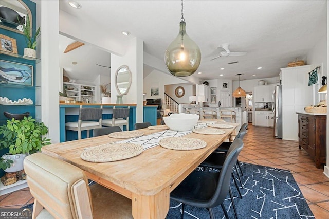
[[[122,41],[121,31],[131,34],[126,37],[140,38],[144,52],[164,60],[165,50],[179,31],[181,2],[175,1],[82,1],[81,9],[74,9],[68,1],[60,1],[60,10],[81,20],[93,21],[106,29],[113,39]],[[241,79],[277,77],[280,68],[286,67],[295,58],[306,60],[307,52],[326,34],[326,1],[184,1],[184,18],[188,35],[198,44],[202,60],[193,75],[202,80],[232,79],[235,74],[244,74]],[[61,47],[64,40],[61,40]],[[74,42],[74,40],[71,40]],[[69,41],[66,44],[70,43]],[[230,51],[246,51],[241,57],[218,56],[217,46],[229,43]],[[67,45],[65,45],[66,47]],[[65,48],[60,48],[64,51]],[[86,49],[87,52],[82,49]],[[92,53],[93,52],[93,53]],[[99,52],[99,53],[98,53]],[[61,53],[61,52],[60,52]],[[90,53],[93,56],[90,56]],[[109,53],[84,45],[63,54],[61,62],[72,78],[88,77],[90,72],[107,74]],[[74,71],[71,62],[78,59],[81,67]],[[88,57],[88,58],[87,58]],[[229,62],[238,61],[229,65]],[[90,64],[89,64],[90,63]],[[307,63],[312,64],[312,63]],[[257,69],[262,67],[262,69]],[[220,70],[220,68],[225,68]],[[145,74],[152,71],[144,66]],[[70,75],[71,74],[71,75]],[[99,74],[99,73],[98,73]],[[219,76],[223,74],[224,76]],[[256,76],[252,76],[255,74]],[[95,78],[97,76],[94,76]]]

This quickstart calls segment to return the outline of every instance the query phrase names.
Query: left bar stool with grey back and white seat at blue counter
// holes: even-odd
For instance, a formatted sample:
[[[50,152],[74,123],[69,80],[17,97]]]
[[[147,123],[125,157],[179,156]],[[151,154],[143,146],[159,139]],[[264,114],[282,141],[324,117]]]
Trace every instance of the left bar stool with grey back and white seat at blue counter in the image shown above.
[[[89,138],[89,130],[102,127],[102,115],[103,106],[100,108],[82,108],[82,105],[80,105],[79,120],[77,122],[66,122],[65,129],[77,131],[78,139],[81,139],[81,131],[87,130],[87,138]]]

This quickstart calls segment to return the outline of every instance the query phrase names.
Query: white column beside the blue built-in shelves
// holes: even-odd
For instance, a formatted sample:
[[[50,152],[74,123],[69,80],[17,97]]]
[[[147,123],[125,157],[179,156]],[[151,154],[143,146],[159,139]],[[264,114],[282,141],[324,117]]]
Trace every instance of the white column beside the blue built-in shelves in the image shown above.
[[[38,9],[41,7],[41,11]],[[37,81],[41,81],[41,120],[49,128],[52,143],[59,142],[59,2],[38,1],[41,14],[41,59],[36,69]],[[38,21],[37,21],[38,24]]]

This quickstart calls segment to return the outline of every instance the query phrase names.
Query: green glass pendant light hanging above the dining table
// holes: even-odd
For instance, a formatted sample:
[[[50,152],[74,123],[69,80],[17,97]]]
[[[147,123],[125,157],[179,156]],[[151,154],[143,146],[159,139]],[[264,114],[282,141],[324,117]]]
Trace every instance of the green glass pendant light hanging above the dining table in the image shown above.
[[[165,62],[168,70],[174,76],[184,77],[192,75],[200,65],[201,52],[198,45],[187,35],[183,16],[183,0],[181,0],[181,19],[179,33],[168,46]]]

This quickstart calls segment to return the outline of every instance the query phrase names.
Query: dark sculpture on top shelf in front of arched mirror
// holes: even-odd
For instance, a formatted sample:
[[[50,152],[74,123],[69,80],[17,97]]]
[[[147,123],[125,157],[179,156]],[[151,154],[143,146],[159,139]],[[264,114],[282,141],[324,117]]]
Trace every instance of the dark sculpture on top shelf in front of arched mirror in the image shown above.
[[[25,24],[25,16],[22,17],[15,10],[7,7],[0,7],[0,19],[3,25],[17,28],[20,24]]]

